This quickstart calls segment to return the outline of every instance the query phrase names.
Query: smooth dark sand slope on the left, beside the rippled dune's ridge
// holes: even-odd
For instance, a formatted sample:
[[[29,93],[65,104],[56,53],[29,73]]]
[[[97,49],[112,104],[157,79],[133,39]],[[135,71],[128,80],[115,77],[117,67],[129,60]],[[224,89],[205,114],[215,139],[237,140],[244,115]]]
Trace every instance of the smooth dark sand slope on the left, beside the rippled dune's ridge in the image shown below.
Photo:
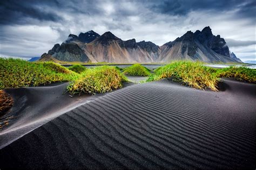
[[[70,97],[70,94],[65,93],[68,83],[54,85],[5,90],[14,98],[14,105],[0,120],[8,120],[9,123],[0,131],[0,148],[51,119],[98,97],[90,95]]]

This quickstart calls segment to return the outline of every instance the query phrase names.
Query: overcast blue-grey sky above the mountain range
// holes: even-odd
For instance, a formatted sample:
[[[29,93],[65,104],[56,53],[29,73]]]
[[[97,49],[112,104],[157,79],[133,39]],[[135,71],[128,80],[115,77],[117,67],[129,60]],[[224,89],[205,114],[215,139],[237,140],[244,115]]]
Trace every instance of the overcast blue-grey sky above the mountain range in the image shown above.
[[[127,40],[173,41],[210,26],[241,60],[255,60],[256,1],[1,1],[0,55],[31,58],[69,34],[111,31]]]

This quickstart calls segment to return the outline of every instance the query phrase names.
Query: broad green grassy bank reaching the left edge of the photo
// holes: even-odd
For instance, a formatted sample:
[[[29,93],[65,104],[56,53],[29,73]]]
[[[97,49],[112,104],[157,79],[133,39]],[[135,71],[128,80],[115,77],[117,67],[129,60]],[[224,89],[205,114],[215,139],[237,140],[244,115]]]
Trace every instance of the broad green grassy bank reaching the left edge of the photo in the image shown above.
[[[71,81],[78,74],[52,62],[0,58],[0,89]]]

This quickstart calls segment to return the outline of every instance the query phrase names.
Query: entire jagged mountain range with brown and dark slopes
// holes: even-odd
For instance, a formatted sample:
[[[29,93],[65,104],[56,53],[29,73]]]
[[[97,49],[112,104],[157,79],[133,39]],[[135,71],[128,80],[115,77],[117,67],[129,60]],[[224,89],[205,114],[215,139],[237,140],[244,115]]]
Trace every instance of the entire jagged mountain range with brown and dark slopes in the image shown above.
[[[151,41],[136,42],[135,39],[122,40],[111,32],[101,36],[88,31],[79,36],[70,34],[61,45],[55,44],[40,60],[151,63],[172,60],[192,60],[204,62],[242,62],[230,52],[225,40],[214,36],[209,26],[202,31],[187,31],[174,41],[158,46]]]

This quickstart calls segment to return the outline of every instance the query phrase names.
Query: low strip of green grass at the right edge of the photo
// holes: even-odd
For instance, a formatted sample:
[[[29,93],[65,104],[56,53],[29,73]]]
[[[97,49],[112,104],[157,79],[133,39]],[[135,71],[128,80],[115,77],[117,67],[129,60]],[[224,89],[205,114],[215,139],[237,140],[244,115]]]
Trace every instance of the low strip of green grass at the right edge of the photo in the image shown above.
[[[245,66],[218,69],[216,72],[218,77],[232,77],[239,81],[256,82],[256,70]]]

